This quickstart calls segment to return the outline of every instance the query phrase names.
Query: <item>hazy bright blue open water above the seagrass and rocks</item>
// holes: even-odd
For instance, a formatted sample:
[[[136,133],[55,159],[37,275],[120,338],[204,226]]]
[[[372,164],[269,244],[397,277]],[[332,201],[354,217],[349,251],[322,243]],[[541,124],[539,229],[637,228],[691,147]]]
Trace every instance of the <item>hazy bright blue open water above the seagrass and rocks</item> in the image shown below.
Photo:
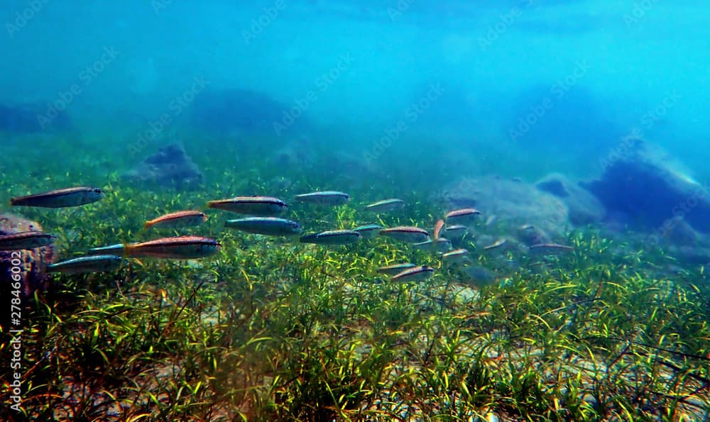
[[[11,0],[0,104],[62,109],[94,143],[155,128],[160,145],[230,120],[196,126],[195,95],[243,90],[278,106],[242,109],[239,131],[510,157],[530,175],[594,174],[636,129],[702,176],[709,14],[657,0]]]

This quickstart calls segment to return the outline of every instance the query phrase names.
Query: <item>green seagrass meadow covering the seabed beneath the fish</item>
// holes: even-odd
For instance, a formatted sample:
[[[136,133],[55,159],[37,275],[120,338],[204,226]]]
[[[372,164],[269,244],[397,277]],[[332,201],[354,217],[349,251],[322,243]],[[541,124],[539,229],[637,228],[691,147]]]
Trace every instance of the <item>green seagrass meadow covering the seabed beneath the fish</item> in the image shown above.
[[[62,259],[154,238],[146,220],[206,211],[210,199],[236,194],[351,195],[336,207],[290,204],[288,217],[306,231],[363,223],[430,228],[447,211],[430,194],[449,174],[413,179],[398,160],[383,159],[386,177],[362,181],[342,177],[327,160],[285,173],[263,159],[267,141],[246,151],[200,143],[197,154],[189,145],[198,143],[187,140],[204,180],[185,191],[123,182],[119,172],[130,158],[120,150],[53,160],[70,141],[42,142],[1,168],[0,211],[20,212],[57,235]],[[106,197],[75,209],[7,206],[11,196],[77,184],[101,187]],[[364,211],[390,197],[405,208]],[[567,233],[573,252],[543,258],[508,250],[506,260],[493,260],[469,236],[462,246],[471,265],[496,274],[479,283],[442,265],[435,252],[386,238],[305,245],[230,231],[225,213],[206,212],[203,226],[180,234],[219,240],[214,257],[131,259],[116,272],[51,275],[50,288],[23,304],[23,411],[11,412],[6,401],[3,420],[708,419],[704,265],[667,270],[674,259],[662,248],[611,239],[593,226]],[[376,271],[395,262],[436,272],[395,283]],[[10,338],[3,326],[4,399]]]

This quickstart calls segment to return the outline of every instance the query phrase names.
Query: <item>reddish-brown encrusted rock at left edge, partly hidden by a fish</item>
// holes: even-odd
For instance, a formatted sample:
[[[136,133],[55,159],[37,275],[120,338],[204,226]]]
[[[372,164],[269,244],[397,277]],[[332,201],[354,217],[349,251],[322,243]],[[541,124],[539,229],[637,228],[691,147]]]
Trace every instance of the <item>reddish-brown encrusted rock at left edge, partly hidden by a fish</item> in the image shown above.
[[[0,214],[0,235],[21,231],[42,231],[42,226],[21,216]],[[20,261],[19,265],[17,260]],[[49,277],[45,270],[53,261],[53,245],[31,250],[0,250],[0,297],[3,300],[7,298],[4,303],[10,303],[13,267],[19,267],[17,274],[22,279],[22,295],[28,299],[35,291],[44,291],[48,287]]]

